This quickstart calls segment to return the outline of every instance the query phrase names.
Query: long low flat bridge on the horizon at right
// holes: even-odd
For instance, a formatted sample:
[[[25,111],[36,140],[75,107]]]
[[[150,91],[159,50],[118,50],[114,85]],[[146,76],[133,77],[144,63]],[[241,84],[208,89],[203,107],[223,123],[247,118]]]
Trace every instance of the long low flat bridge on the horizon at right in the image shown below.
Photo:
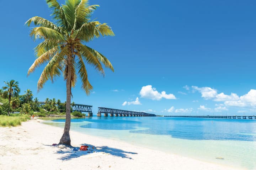
[[[256,119],[256,116],[164,116],[176,118]]]

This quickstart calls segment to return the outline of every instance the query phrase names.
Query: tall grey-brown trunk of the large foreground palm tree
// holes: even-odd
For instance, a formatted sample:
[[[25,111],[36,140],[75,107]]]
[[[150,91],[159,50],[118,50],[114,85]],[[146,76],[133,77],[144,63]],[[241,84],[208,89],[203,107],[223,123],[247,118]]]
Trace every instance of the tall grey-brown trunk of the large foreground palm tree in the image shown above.
[[[71,58],[71,57],[70,57]],[[71,63],[68,61],[68,76],[66,79],[66,121],[64,133],[59,144],[71,145],[69,130],[70,130],[70,104],[71,104]]]

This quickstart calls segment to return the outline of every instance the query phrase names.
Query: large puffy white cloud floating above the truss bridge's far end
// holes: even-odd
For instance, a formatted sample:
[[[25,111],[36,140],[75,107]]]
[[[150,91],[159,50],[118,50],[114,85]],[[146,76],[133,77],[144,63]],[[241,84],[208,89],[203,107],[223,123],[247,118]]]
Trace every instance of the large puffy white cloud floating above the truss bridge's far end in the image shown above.
[[[155,88],[152,88],[152,85],[143,86],[140,90],[140,97],[152,100],[161,100],[161,98],[176,99],[173,94],[166,94],[165,91],[159,93]]]

